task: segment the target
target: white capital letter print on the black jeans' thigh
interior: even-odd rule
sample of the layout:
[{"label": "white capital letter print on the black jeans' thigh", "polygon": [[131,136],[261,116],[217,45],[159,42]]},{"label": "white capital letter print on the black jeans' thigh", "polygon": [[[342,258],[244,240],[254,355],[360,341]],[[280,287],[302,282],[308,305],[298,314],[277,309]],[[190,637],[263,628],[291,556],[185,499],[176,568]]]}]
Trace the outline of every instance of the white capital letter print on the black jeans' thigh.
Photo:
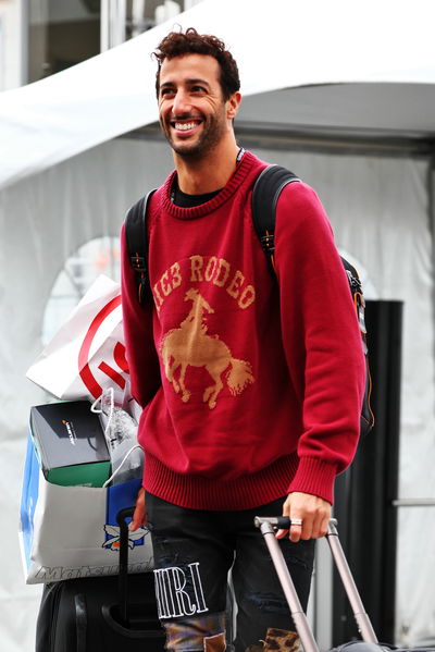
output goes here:
[{"label": "white capital letter print on the black jeans' thigh", "polygon": [[199,563],[185,568],[171,566],[154,570],[159,618],[192,616],[209,611],[206,604]]}]

